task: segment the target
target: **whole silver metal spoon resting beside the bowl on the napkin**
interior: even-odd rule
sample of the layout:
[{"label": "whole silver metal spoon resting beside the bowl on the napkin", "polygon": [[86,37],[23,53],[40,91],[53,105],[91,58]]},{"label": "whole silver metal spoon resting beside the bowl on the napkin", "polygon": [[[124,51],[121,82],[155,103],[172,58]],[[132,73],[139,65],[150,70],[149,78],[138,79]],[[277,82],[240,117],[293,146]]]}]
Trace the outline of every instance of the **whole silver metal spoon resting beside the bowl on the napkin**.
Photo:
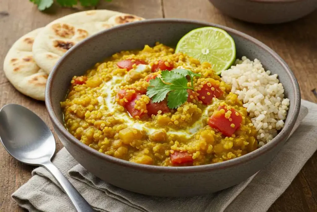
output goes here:
[{"label": "whole silver metal spoon resting beside the bowl on the napkin", "polygon": [[50,161],[55,139],[45,122],[29,109],[9,104],[0,110],[0,141],[16,160],[46,168],[61,184],[78,212],[94,209]]}]

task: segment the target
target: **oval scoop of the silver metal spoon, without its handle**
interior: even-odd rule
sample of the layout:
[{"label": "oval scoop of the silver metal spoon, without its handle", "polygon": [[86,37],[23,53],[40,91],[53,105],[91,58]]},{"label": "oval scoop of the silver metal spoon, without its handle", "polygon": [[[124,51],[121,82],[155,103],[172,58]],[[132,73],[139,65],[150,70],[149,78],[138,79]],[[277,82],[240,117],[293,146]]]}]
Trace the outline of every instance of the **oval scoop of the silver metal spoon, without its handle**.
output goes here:
[{"label": "oval scoop of the silver metal spoon, without its handle", "polygon": [[16,104],[6,105],[0,110],[0,123],[1,143],[16,160],[41,165],[54,155],[53,133],[29,109]]}]

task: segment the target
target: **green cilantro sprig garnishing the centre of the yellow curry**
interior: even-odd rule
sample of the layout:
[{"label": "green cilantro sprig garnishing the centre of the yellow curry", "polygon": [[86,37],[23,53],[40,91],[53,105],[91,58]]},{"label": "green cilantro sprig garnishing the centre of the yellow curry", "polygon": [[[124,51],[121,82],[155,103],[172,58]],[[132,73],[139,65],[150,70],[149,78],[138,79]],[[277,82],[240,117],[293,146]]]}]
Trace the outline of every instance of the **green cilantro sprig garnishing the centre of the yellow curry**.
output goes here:
[{"label": "green cilantro sprig garnishing the centre of the yellow curry", "polygon": [[[186,76],[191,78],[190,87],[187,86]],[[150,80],[146,95],[152,99],[152,102],[161,102],[167,96],[167,106],[171,109],[178,108],[188,98],[187,89],[194,90],[194,77],[200,77],[200,74],[186,69],[163,71],[161,78]]]}]

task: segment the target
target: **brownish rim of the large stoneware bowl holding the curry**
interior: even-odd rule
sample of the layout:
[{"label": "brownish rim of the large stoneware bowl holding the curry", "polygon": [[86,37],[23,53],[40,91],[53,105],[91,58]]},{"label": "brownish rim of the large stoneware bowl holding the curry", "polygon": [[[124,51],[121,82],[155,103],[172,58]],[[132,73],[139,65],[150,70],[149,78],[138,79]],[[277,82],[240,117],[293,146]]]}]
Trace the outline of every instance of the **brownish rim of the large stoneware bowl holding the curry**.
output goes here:
[{"label": "brownish rim of the large stoneware bowl holding the curry", "polygon": [[[115,158],[113,156],[100,153],[99,151],[83,144],[80,142],[78,139],[76,139],[71,133],[68,132],[68,130],[64,127],[63,123],[61,123],[58,120],[58,116],[55,113],[55,110],[53,108],[52,104],[52,82],[54,81],[59,67],[67,60],[69,55],[71,55],[73,52],[78,51],[81,48],[81,45],[84,45],[86,43],[89,43],[94,40],[94,38],[104,36],[104,34],[111,33],[112,31],[117,31],[117,30],[122,30],[125,28],[130,28],[136,25],[147,25],[147,24],[156,24],[156,23],[166,23],[166,24],[173,24],[173,23],[182,23],[182,24],[198,24],[204,26],[213,26],[213,27],[218,27],[221,28],[227,32],[230,32],[232,34],[235,34],[237,36],[243,37],[250,42],[253,42],[254,44],[258,45],[259,48],[264,49],[265,51],[268,51],[283,67],[284,70],[287,72],[288,76],[292,80],[292,87],[294,89],[294,108],[293,111],[288,111],[288,114],[291,114],[291,118],[288,121],[287,124],[282,128],[281,132],[275,136],[273,140],[271,140],[269,143],[264,145],[261,148],[256,149],[253,152],[250,152],[248,154],[245,154],[243,156],[228,160],[228,161],[223,161],[219,163],[213,163],[213,164],[207,164],[207,165],[199,165],[199,166],[185,166],[185,167],[164,167],[164,166],[154,166],[154,165],[146,165],[146,164],[139,164],[139,163],[133,163],[130,161],[125,161],[119,158]],[[293,92],[293,91],[291,91]],[[127,23],[127,24],[122,24],[115,26],[113,28],[107,29],[100,31],[84,40],[76,44],[74,47],[72,47],[70,50],[68,50],[60,59],[59,61],[55,64],[52,72],[49,74],[49,78],[46,84],[45,88],[45,104],[49,113],[49,117],[53,124],[55,125],[55,129],[57,130],[65,137],[69,142],[72,142],[73,144],[77,145],[82,149],[82,151],[85,151],[88,154],[95,155],[99,157],[100,159],[103,159],[107,162],[110,163],[115,163],[117,165],[124,166],[126,168],[132,168],[132,169],[142,169],[144,171],[150,171],[150,172],[169,172],[169,173],[188,173],[188,172],[205,172],[205,171],[211,171],[211,170],[217,170],[217,169],[223,169],[223,168],[228,168],[232,166],[236,166],[241,163],[246,163],[256,157],[259,157],[262,154],[265,154],[275,146],[277,146],[279,143],[281,143],[284,140],[285,136],[289,136],[289,133],[294,127],[294,123],[297,120],[299,110],[300,110],[300,103],[301,103],[301,93],[300,93],[300,88],[299,84],[297,82],[297,79],[295,78],[293,72],[290,70],[288,65],[285,63],[285,61],[271,48],[269,48],[267,45],[263,44],[259,40],[243,33],[240,31],[237,31],[235,29],[222,26],[219,24],[213,24],[213,23],[208,23],[208,22],[203,22],[203,21],[196,21],[196,20],[189,20],[189,19],[176,19],[176,18],[157,18],[157,19],[149,19],[149,20],[142,20],[138,22],[132,22],[132,23]]]}]

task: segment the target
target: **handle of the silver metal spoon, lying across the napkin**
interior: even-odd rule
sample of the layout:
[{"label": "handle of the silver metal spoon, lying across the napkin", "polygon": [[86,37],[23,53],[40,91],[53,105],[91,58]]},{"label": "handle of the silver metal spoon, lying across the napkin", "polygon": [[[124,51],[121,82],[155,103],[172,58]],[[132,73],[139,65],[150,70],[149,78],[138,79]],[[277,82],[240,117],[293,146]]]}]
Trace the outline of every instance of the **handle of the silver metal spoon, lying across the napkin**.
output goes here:
[{"label": "handle of the silver metal spoon, lying across the napkin", "polygon": [[94,209],[88,204],[88,202],[81,196],[76,188],[68,181],[68,179],[61,173],[58,168],[51,162],[42,163],[42,166],[46,168],[60,183],[61,187],[68,195],[72,203],[74,204],[78,212],[93,212]]}]

